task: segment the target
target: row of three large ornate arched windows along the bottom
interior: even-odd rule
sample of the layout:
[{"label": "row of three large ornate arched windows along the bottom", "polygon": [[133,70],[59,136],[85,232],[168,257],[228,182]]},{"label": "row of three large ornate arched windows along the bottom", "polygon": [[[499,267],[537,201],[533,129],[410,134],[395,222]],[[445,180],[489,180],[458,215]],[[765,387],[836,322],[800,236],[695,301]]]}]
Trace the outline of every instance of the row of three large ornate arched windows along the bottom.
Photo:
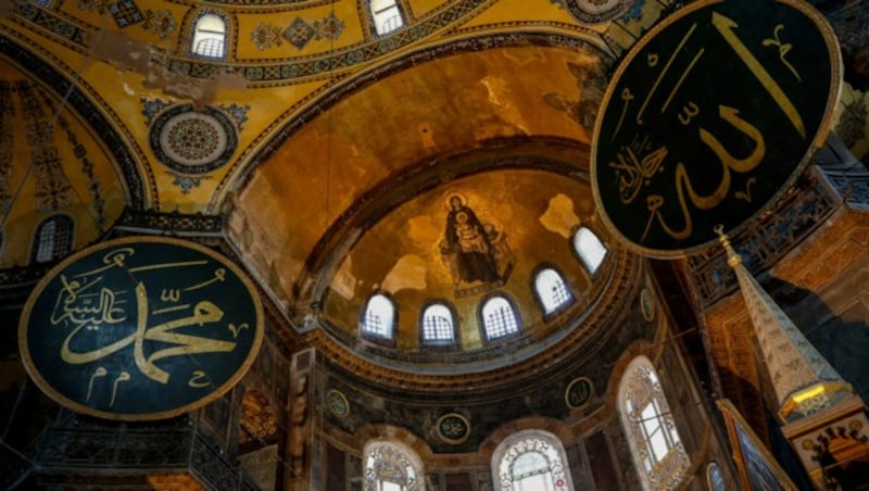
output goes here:
[{"label": "row of three large ornate arched windows along the bottom", "polygon": [[[622,429],[644,490],[675,490],[690,461],[676,429],[657,373],[645,356],[634,358],[618,389]],[[419,456],[402,443],[374,440],[363,450],[366,491],[413,491],[425,476]],[[515,432],[495,448],[493,488],[500,491],[568,491],[574,483],[564,444],[537,429]]]}]

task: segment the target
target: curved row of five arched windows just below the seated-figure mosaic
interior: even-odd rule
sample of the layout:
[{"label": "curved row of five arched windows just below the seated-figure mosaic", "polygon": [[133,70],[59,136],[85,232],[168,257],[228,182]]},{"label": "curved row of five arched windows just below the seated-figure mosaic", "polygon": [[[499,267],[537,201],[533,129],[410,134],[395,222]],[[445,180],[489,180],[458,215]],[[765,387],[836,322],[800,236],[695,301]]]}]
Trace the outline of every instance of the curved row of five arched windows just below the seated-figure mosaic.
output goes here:
[{"label": "curved row of five arched windows just below the seated-figure mosaic", "polygon": [[[582,227],[574,235],[574,249],[582,264],[593,275],[606,257],[606,247],[590,229]],[[575,301],[564,277],[546,266],[534,275],[534,293],[544,315],[561,312]],[[456,316],[446,302],[432,302],[420,317],[420,339],[428,345],[449,345],[456,342]],[[519,333],[519,313],[506,295],[498,293],[487,299],[479,310],[479,322],[488,341]],[[362,332],[379,339],[391,340],[396,325],[395,305],[383,293],[375,293],[365,306],[361,319]]]}]

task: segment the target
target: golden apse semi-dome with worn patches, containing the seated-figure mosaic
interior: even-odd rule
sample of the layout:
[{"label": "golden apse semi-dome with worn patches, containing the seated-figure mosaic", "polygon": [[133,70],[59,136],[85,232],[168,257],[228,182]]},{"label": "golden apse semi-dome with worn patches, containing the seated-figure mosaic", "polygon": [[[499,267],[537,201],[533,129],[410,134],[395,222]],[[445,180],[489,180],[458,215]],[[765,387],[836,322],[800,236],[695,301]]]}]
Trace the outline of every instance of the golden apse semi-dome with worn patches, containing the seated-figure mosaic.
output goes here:
[{"label": "golden apse semi-dome with worn patches, containing the seated-figure mosaic", "polygon": [[[305,111],[288,121],[240,171],[231,238],[298,325],[316,320],[324,342],[393,368],[479,372],[527,358],[579,325],[597,329],[577,319],[627,274],[588,182],[604,67],[590,46],[533,45],[429,48],[376,66],[342,83],[340,97],[313,102],[304,126]],[[456,221],[468,215],[486,236],[474,260],[450,252],[461,250]],[[577,253],[580,227],[613,249],[600,270]],[[544,267],[571,297],[562,315],[546,314],[534,291]],[[387,339],[364,332],[375,293],[395,307]],[[495,294],[517,310],[521,336],[487,339],[480,307]],[[426,345],[420,335],[432,303],[454,314],[450,345]]]}]

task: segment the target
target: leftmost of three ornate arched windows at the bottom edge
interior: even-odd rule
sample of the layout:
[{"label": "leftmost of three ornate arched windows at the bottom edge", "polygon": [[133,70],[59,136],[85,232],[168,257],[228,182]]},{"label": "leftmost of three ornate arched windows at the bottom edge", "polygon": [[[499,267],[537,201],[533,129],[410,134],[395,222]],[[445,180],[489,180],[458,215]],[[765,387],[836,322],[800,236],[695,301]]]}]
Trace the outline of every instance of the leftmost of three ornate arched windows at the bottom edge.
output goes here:
[{"label": "leftmost of three ornate arched windows at the bottom edge", "polygon": [[425,489],[423,461],[410,449],[391,441],[365,444],[365,491]]}]

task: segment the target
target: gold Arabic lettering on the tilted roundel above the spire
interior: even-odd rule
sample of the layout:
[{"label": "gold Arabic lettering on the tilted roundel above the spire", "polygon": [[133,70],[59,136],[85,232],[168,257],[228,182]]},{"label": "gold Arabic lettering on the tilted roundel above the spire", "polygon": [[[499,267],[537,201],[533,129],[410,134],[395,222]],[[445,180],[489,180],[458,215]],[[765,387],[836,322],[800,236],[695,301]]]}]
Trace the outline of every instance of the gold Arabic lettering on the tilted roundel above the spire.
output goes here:
[{"label": "gold Arabic lettering on the tilted roundel above the spire", "polygon": [[[748,68],[754,77],[760,83],[766,90],[767,95],[771,98],[774,104],[782,111],[783,115],[788,118],[791,125],[802,139],[806,138],[806,127],[799,112],[796,110],[794,103],[772,78],[769,72],[757,60],[752,51],[743,43],[738,37],[736,29],[739,25],[731,18],[718,13],[711,13],[711,26],[718,32],[720,38],[723,39],[731,51],[739,58],[739,60]],[[664,68],[657,74],[651,89],[646,93],[645,99],[640,105],[635,114],[635,122],[638,126],[643,125],[643,113],[651,109],[650,102],[656,91],[662,89],[662,81],[665,79],[667,72],[678,64],[680,51],[689,45],[691,37],[694,35],[697,24],[694,23],[681,38],[676,50],[670,54]],[[774,27],[773,39],[766,39],[763,46],[772,46],[779,49],[779,58],[786,65],[786,67],[799,79],[799,75],[794,66],[784,60],[793,46],[791,43],[781,42],[781,33],[784,29],[782,24]],[[687,64],[682,73],[679,75],[678,80],[670,88],[666,101],[660,108],[660,113],[667,111],[670,102],[673,101],[675,96],[680,90],[685,81],[688,74],[694,68],[697,61],[703,56],[705,48],[696,50],[694,56]],[[659,56],[657,53],[648,53],[646,55],[647,67],[652,68],[657,66]],[[626,77],[627,78],[627,77]],[[626,112],[631,100],[634,99],[630,87],[620,89],[621,102],[620,115],[616,124],[615,131],[610,137],[614,141],[617,134],[621,130],[625,121]],[[707,108],[708,109],[708,108]],[[691,126],[696,116],[701,114],[704,109],[702,104],[695,101],[688,100],[676,113],[676,117],[681,126]],[[676,162],[672,171],[673,188],[676,189],[676,202],[679,207],[679,213],[675,214],[679,219],[678,225],[672,222],[667,222],[671,218],[670,215],[662,213],[662,209],[667,204],[665,197],[659,193],[648,193],[645,196],[645,209],[648,212],[648,219],[643,229],[640,242],[645,242],[653,224],[657,224],[659,229],[667,236],[683,240],[689,238],[693,232],[693,218],[691,210],[711,210],[721,204],[730,194],[732,176],[736,174],[747,174],[755,169],[764,161],[767,154],[767,144],[761,131],[751,122],[746,121],[740,115],[740,110],[725,103],[716,104],[715,112],[718,117],[729,124],[732,128],[736,129],[745,138],[745,141],[751,141],[753,147],[748,150],[747,155],[734,155],[728,148],[703,124],[696,125],[696,133],[700,141],[709,149],[717,159],[718,168],[717,173],[713,169],[713,175],[720,176],[717,180],[717,186],[709,191],[701,192],[692,182],[689,175],[688,167],[683,162]],[[612,169],[615,176],[615,186],[617,189],[618,198],[624,204],[633,203],[641,190],[650,186],[658,174],[664,173],[665,163],[670,154],[666,144],[655,143],[648,136],[635,135],[629,144],[622,144],[615,158],[612,159],[607,166]],[[704,175],[709,175],[709,169],[703,169]],[[746,202],[751,202],[751,185],[755,184],[755,177],[748,177],[745,190],[735,191],[734,198]]]}]

